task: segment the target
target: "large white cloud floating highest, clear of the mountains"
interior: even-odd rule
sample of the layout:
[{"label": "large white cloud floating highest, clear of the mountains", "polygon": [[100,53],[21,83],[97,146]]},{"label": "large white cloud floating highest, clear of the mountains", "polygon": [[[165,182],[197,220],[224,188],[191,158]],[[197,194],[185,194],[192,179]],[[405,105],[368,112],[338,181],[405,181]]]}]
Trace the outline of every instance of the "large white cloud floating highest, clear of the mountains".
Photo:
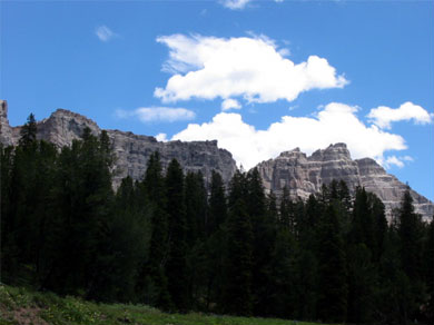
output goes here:
[{"label": "large white cloud floating highest, clear of the mountains", "polygon": [[[215,38],[172,35],[159,37],[169,48],[162,70],[174,73],[154,95],[164,102],[228,99],[248,102],[292,101],[310,89],[343,88],[347,80],[336,75],[326,59],[310,56],[294,63],[266,36]],[[279,52],[280,51],[280,52]]]}]

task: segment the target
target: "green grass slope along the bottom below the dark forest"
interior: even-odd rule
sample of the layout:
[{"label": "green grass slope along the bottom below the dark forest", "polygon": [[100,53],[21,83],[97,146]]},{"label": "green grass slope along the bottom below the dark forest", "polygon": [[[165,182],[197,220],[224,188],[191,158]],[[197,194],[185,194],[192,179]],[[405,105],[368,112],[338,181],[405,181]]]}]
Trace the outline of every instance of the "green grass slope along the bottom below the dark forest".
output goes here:
[{"label": "green grass slope along the bottom below the dark forest", "polygon": [[234,316],[166,314],[144,305],[97,304],[77,297],[0,285],[0,325],[309,325],[312,323]]}]

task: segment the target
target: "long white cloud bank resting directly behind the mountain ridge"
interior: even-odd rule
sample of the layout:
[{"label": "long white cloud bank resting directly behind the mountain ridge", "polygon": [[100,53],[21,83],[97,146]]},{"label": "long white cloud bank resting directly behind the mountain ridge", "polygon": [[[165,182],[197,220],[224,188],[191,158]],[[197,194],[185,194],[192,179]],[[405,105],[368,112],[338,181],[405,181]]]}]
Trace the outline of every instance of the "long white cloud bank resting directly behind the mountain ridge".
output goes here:
[{"label": "long white cloud bank resting directly behind the mountain ridge", "polygon": [[220,112],[208,124],[190,124],[175,135],[179,140],[218,140],[238,164],[250,168],[282,151],[299,147],[304,152],[346,142],[353,158],[372,157],[384,161],[387,150],[406,149],[404,139],[377,126],[366,126],[356,116],[357,108],[332,102],[315,117],[284,116],[266,130],[257,130],[243,121],[239,114]]}]

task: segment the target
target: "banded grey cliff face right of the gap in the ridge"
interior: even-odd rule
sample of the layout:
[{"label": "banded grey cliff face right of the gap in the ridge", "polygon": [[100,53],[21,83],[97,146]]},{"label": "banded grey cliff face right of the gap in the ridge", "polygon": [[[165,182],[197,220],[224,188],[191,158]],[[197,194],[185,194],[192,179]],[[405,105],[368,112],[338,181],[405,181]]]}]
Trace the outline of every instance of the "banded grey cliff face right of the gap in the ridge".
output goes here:
[{"label": "banded grey cliff face right of the gap in the ridge", "polygon": [[[375,193],[388,214],[400,206],[406,189],[403,183],[387,174],[375,160],[353,160],[345,144],[331,145],[309,157],[296,148],[282,152],[276,159],[260,162],[257,167],[265,188],[277,196],[287,186],[293,198],[299,196],[307,199],[310,194],[318,193],[323,184],[343,179],[352,191],[356,186],[364,186],[366,190]],[[416,211],[431,219],[434,214],[433,203],[414,190],[411,193]]]}]

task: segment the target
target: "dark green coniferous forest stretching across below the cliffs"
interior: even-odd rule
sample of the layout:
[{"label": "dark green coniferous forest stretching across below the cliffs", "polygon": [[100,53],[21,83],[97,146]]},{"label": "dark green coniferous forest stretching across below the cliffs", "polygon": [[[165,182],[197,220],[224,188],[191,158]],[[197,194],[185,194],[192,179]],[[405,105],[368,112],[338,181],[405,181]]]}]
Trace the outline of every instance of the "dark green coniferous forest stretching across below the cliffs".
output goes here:
[{"label": "dark green coniferous forest stretching across below the cliffs", "polygon": [[265,194],[259,173],[167,169],[112,189],[105,131],[60,151],[32,116],[1,154],[1,282],[168,312],[355,324],[433,324],[434,223],[406,191],[383,203],[335,180],[307,201]]}]

